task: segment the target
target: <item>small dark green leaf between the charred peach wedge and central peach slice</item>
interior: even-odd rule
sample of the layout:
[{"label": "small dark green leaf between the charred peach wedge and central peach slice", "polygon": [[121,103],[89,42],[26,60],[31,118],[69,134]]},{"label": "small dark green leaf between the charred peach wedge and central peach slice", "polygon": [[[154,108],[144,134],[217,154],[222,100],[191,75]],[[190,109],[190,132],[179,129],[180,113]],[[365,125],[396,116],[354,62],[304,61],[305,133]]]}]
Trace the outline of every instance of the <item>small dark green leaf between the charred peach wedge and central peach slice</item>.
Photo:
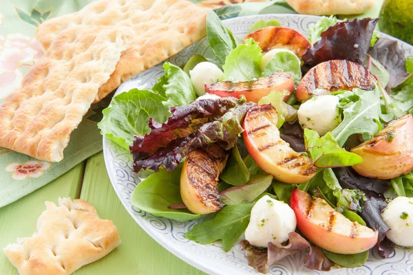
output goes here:
[{"label": "small dark green leaf between the charred peach wedge and central peach slice", "polygon": [[244,185],[250,179],[250,173],[241,158],[240,151],[236,144],[231,150],[231,155],[226,162],[225,169],[222,171],[220,178],[227,184],[235,186]]}]

